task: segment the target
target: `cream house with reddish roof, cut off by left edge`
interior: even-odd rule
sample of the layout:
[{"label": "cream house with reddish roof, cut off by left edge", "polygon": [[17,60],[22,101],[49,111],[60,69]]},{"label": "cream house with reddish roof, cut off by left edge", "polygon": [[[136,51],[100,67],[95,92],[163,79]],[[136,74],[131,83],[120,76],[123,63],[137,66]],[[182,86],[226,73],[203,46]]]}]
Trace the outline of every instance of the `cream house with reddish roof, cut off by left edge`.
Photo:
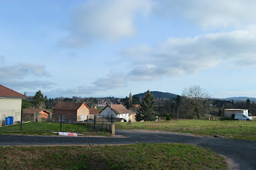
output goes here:
[{"label": "cream house with reddish roof, cut off by left edge", "polygon": [[13,122],[20,122],[21,103],[26,96],[0,85],[0,125],[5,125],[5,117],[13,116]]}]

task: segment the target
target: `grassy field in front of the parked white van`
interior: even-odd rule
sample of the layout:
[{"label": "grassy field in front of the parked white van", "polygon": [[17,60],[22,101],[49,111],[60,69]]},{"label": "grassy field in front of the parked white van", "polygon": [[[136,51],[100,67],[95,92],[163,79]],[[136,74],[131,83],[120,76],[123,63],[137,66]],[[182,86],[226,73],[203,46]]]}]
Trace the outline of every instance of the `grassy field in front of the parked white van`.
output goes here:
[{"label": "grassy field in front of the parked white van", "polygon": [[232,139],[256,140],[256,121],[170,120],[162,122],[115,123],[119,129],[151,129],[197,135],[219,135]]}]

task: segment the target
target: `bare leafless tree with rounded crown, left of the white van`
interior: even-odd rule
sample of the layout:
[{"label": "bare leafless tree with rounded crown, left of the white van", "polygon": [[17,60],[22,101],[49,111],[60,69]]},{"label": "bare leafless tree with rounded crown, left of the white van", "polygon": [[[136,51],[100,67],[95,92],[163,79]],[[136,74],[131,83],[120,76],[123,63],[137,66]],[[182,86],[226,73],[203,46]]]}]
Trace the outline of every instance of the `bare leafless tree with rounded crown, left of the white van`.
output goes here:
[{"label": "bare leafless tree with rounded crown, left of the white van", "polygon": [[183,90],[182,96],[187,97],[189,105],[192,107],[197,119],[200,119],[200,116],[208,108],[208,98],[210,98],[210,95],[199,85],[192,85]]}]

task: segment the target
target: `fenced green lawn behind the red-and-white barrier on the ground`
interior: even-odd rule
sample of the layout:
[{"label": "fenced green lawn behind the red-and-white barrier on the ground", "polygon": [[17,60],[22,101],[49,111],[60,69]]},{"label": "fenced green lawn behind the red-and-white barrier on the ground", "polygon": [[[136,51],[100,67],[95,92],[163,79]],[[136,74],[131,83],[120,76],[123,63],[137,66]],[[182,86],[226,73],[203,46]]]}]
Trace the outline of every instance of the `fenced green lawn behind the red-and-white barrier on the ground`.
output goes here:
[{"label": "fenced green lawn behind the red-and-white barrier on the ground", "polygon": [[[20,124],[0,127],[0,134],[36,134],[36,135],[53,135],[53,131],[60,131],[60,123],[23,123],[23,131],[20,131]],[[110,133],[105,131],[94,132],[89,131],[89,127],[76,124],[62,124],[62,131],[74,132],[84,135],[105,135]]]}]

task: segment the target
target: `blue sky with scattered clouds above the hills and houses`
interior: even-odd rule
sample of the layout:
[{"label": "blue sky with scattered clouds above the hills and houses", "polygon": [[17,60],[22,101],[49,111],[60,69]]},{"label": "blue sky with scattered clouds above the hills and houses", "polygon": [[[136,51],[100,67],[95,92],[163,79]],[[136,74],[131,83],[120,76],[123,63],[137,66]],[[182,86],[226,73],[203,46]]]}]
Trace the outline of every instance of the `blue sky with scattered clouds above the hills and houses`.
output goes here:
[{"label": "blue sky with scattered clouds above the hills and houses", "polygon": [[254,0],[1,0],[0,84],[48,97],[256,97]]}]

